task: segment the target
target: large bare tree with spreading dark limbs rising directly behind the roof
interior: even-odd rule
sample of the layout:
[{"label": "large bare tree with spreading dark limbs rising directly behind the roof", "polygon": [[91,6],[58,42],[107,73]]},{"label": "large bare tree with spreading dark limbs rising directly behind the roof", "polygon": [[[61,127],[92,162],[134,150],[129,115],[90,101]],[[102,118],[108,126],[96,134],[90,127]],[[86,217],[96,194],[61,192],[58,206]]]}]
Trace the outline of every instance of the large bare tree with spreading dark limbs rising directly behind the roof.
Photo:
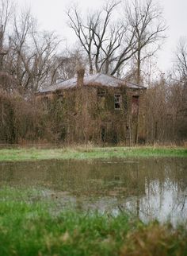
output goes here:
[{"label": "large bare tree with spreading dark limbs rising directly behind the roof", "polygon": [[89,59],[90,74],[116,74],[126,60],[135,53],[135,31],[122,21],[113,21],[113,13],[120,2],[107,1],[101,11],[89,14],[84,21],[78,8],[67,12],[69,25],[74,29]]}]

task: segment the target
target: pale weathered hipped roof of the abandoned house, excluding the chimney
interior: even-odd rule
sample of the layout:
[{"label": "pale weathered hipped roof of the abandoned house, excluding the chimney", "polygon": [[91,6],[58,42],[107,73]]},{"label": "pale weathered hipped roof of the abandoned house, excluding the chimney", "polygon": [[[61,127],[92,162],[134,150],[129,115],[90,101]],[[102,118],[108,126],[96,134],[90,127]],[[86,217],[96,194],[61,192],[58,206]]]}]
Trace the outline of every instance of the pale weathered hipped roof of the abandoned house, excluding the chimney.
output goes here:
[{"label": "pale weathered hipped roof of the abandoned house, excluding the chimney", "polygon": [[[124,80],[117,79],[116,77],[97,73],[94,75],[84,76],[84,85],[94,85],[94,86],[105,86],[105,87],[121,87],[126,86],[132,89],[145,89],[145,87],[140,86],[135,83],[125,82]],[[70,80],[63,81],[61,83],[56,83],[44,89],[40,89],[39,93],[57,91],[61,89],[69,89],[76,87],[77,78],[71,78]]]}]

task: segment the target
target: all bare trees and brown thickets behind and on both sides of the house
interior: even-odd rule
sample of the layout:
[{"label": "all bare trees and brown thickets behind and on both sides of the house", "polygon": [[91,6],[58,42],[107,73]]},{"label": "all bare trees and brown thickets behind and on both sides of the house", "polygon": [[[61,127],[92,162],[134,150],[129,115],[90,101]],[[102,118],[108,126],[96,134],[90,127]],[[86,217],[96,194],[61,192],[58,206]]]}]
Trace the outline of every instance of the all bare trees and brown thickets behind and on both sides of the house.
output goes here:
[{"label": "all bare trees and brown thickets behind and on both sides of the house", "polygon": [[0,1],[0,142],[59,142],[60,101],[52,102],[47,111],[34,94],[73,77],[80,62],[90,74],[103,72],[147,87],[147,143],[185,141],[187,45],[185,40],[177,45],[171,76],[155,80],[152,58],[166,37],[158,4],[107,0],[86,17],[78,7],[70,7],[67,21],[78,39],[72,50],[64,49],[55,33],[40,31],[30,10],[17,10],[11,0]]}]

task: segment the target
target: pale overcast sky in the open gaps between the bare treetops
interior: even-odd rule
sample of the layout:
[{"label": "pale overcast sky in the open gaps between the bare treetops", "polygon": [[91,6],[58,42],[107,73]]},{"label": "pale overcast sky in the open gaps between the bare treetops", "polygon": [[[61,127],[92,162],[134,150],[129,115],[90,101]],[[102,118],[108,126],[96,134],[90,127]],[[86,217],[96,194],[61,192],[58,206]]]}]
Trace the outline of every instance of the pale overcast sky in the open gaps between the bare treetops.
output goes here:
[{"label": "pale overcast sky in the open gaps between the bare treetops", "polygon": [[[101,6],[103,0],[77,0],[82,12]],[[70,0],[17,0],[19,6],[30,7],[32,14],[39,21],[40,27],[55,30],[60,37],[67,37],[71,43],[74,33],[67,27],[65,10],[71,5]],[[158,54],[158,68],[166,72],[171,67],[174,52],[180,37],[187,37],[187,0],[160,0],[168,30],[167,39]]]}]

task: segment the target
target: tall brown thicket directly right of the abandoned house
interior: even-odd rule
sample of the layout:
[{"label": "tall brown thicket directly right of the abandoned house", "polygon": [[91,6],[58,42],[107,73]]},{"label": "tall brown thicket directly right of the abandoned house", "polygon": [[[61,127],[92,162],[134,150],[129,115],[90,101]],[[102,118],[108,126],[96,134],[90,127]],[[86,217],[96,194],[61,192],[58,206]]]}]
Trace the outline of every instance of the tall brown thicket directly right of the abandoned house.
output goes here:
[{"label": "tall brown thicket directly right of the abandoned house", "polygon": [[173,142],[187,138],[186,83],[161,79],[147,89],[147,143]]}]

